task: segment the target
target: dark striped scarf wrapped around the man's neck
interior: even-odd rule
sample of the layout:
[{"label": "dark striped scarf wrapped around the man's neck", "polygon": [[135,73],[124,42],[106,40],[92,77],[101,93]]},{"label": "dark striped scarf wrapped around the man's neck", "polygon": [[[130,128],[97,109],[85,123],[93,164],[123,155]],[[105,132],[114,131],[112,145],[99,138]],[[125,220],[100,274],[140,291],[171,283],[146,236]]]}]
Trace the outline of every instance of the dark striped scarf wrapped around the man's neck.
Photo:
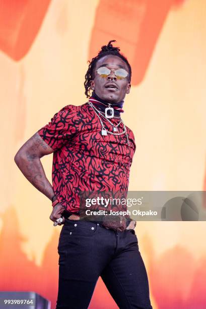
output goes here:
[{"label": "dark striped scarf wrapped around the man's neck", "polygon": [[101,112],[105,113],[105,109],[110,106],[114,109],[114,117],[120,117],[120,113],[123,113],[123,104],[124,101],[120,101],[118,103],[109,103],[108,101],[105,101],[101,99],[94,91],[92,92],[92,96],[89,98],[89,101],[92,102],[92,104]]}]

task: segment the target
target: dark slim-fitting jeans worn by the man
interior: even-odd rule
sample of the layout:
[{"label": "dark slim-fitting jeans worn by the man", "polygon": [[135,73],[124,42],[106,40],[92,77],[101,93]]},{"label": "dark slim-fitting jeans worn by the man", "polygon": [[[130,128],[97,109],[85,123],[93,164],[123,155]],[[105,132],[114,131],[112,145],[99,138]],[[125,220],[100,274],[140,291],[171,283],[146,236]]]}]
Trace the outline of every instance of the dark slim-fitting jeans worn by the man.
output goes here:
[{"label": "dark slim-fitting jeans worn by the man", "polygon": [[58,253],[56,308],[88,308],[101,276],[120,309],[152,309],[147,272],[134,230],[114,231],[100,223],[66,219]]}]

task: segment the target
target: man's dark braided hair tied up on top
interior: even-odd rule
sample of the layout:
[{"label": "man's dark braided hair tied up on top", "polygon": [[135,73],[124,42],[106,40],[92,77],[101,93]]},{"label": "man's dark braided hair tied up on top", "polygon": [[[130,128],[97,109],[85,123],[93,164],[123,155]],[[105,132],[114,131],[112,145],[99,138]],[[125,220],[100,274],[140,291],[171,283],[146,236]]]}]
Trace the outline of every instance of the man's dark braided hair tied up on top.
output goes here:
[{"label": "man's dark braided hair tied up on top", "polygon": [[118,56],[119,58],[121,58],[128,66],[128,69],[129,69],[128,82],[130,83],[130,81],[131,81],[130,64],[128,63],[127,59],[122,54],[119,53],[120,48],[119,47],[113,47],[111,42],[116,42],[116,40],[109,41],[109,43],[107,45],[102,46],[102,49],[100,50],[99,54],[96,57],[92,58],[91,62],[89,61],[89,68],[88,68],[87,73],[85,75],[85,82],[84,82],[85,94],[86,94],[87,97],[90,96],[90,91],[91,91],[90,82],[91,82],[91,80],[93,80],[93,70],[96,66],[97,61],[104,56],[113,55],[113,56]]}]

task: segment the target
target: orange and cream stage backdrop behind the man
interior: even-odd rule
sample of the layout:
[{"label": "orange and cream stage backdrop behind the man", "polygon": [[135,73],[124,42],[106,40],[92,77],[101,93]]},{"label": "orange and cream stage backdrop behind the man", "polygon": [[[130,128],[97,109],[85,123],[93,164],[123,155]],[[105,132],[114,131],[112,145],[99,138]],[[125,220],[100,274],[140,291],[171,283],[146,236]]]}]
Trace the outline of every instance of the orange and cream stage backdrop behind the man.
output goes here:
[{"label": "orange and cream stage backdrop behind the man", "polygon": [[[1,0],[1,290],[36,291],[55,307],[61,227],[14,156],[62,107],[87,101],[87,61],[111,39],[132,66],[122,116],[136,141],[129,190],[206,189],[205,38],[204,0]],[[51,182],[52,155],[41,161]],[[205,308],[205,222],[135,231],[153,308]],[[117,308],[101,279],[90,308]]]}]

